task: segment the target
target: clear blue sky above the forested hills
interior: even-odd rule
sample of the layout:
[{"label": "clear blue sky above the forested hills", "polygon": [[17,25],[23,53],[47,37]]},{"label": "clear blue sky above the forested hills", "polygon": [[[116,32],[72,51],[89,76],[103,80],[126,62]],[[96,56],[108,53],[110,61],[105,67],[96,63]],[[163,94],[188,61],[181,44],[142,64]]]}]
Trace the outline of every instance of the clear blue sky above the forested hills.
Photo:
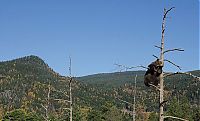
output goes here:
[{"label": "clear blue sky above the forested hills", "polygon": [[74,76],[114,72],[114,63],[147,66],[159,56],[154,45],[170,7],[165,48],[185,52],[165,57],[182,71],[199,69],[198,0],[1,0],[0,61],[37,55],[67,75],[71,56]]}]

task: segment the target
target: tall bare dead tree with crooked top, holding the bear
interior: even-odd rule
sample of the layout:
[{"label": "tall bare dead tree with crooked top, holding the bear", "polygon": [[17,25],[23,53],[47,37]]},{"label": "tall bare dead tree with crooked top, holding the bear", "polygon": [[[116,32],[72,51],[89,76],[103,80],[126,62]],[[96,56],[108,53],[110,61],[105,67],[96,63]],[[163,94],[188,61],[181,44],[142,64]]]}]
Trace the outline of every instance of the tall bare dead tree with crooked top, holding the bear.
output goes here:
[{"label": "tall bare dead tree with crooked top, holding the bear", "polygon": [[[169,50],[165,50],[164,49],[164,35],[165,35],[165,23],[166,23],[166,18],[167,18],[167,14],[173,9],[174,7],[170,8],[170,9],[164,9],[164,15],[163,15],[163,19],[162,19],[162,31],[161,31],[161,46],[156,46],[156,48],[160,49],[160,57],[157,57],[155,55],[153,55],[153,57],[159,59],[161,62],[162,62],[162,66],[164,67],[164,62],[168,62],[170,64],[172,64],[173,66],[177,67],[179,70],[181,70],[181,67],[175,63],[173,63],[172,61],[170,60],[167,60],[164,58],[164,54],[165,53],[168,53],[168,52],[173,52],[173,51],[184,51],[183,49],[181,48],[173,48],[173,49],[169,49]],[[145,69],[148,69],[147,67],[145,66],[136,66],[136,67],[127,67],[127,66],[124,66],[124,65],[120,65],[120,64],[115,64],[116,66],[120,67],[121,70],[128,70],[128,69],[133,69],[133,68],[145,68]],[[200,81],[200,77],[198,76],[195,76],[191,73],[187,73],[187,72],[175,72],[175,73],[168,73],[168,74],[165,74],[163,71],[162,73],[160,74],[159,76],[159,82],[160,82],[160,85],[159,86],[155,86],[153,84],[149,84],[150,86],[156,88],[159,93],[160,93],[160,101],[159,101],[159,108],[160,108],[160,113],[159,113],[159,121],[164,121],[165,118],[173,118],[173,119],[179,119],[179,120],[183,120],[183,121],[188,121],[186,119],[183,119],[183,118],[179,118],[179,117],[174,117],[174,116],[164,116],[164,104],[166,103],[166,101],[164,100],[164,78],[165,77],[168,77],[168,76],[172,76],[172,75],[176,75],[176,74],[185,74],[185,75],[189,75],[197,80]]]}]

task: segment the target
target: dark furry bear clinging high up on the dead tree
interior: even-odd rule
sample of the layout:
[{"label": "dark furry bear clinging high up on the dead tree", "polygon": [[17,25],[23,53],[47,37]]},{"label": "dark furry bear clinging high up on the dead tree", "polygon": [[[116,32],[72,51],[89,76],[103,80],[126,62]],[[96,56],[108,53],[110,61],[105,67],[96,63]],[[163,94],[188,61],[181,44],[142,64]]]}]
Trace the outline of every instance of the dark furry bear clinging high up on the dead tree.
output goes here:
[{"label": "dark furry bear clinging high up on the dead tree", "polygon": [[158,86],[158,83],[160,81],[159,76],[162,73],[162,67],[163,64],[159,59],[148,65],[148,70],[144,75],[144,84],[146,86],[149,87],[150,86],[149,84]]}]

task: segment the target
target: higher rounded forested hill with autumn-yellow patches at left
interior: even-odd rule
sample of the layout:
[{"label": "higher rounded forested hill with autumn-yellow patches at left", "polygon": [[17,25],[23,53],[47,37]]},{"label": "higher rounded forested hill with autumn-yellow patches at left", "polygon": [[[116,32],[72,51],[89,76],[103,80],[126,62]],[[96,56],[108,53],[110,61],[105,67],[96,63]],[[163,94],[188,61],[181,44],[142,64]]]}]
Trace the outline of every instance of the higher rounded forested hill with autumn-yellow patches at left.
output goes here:
[{"label": "higher rounded forested hill with autumn-yellow patches at left", "polygon": [[[55,90],[68,90],[67,79],[63,81],[62,76],[54,72],[41,58],[33,55],[0,62],[0,74],[0,110],[3,114],[14,109],[43,114],[49,85],[52,90],[50,96],[53,98],[63,96]],[[55,103],[54,100],[50,102],[52,105]],[[59,106],[57,104],[51,108],[56,112]]]}]

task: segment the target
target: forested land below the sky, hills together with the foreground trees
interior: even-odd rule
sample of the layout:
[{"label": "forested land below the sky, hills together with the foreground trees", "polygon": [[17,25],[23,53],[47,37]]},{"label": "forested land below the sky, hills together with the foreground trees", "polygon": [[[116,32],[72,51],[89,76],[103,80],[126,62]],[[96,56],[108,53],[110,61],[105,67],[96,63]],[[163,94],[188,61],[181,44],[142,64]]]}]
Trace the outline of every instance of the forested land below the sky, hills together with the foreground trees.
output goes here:
[{"label": "forested land below the sky, hills together with the foreground trees", "polygon": [[[143,83],[144,71],[95,74],[73,78],[74,120],[131,120],[134,78],[137,74],[136,118],[152,120],[159,109],[158,92]],[[200,76],[200,71],[192,71]],[[54,72],[37,56],[0,62],[0,118],[68,120],[69,79]],[[165,112],[197,121],[200,82],[187,75],[165,79]],[[48,98],[49,95],[49,98]],[[63,100],[57,100],[63,99]],[[45,107],[48,107],[45,110]],[[176,109],[176,110],[175,110]],[[48,116],[47,116],[48,115]],[[111,118],[112,117],[112,118]]]}]

